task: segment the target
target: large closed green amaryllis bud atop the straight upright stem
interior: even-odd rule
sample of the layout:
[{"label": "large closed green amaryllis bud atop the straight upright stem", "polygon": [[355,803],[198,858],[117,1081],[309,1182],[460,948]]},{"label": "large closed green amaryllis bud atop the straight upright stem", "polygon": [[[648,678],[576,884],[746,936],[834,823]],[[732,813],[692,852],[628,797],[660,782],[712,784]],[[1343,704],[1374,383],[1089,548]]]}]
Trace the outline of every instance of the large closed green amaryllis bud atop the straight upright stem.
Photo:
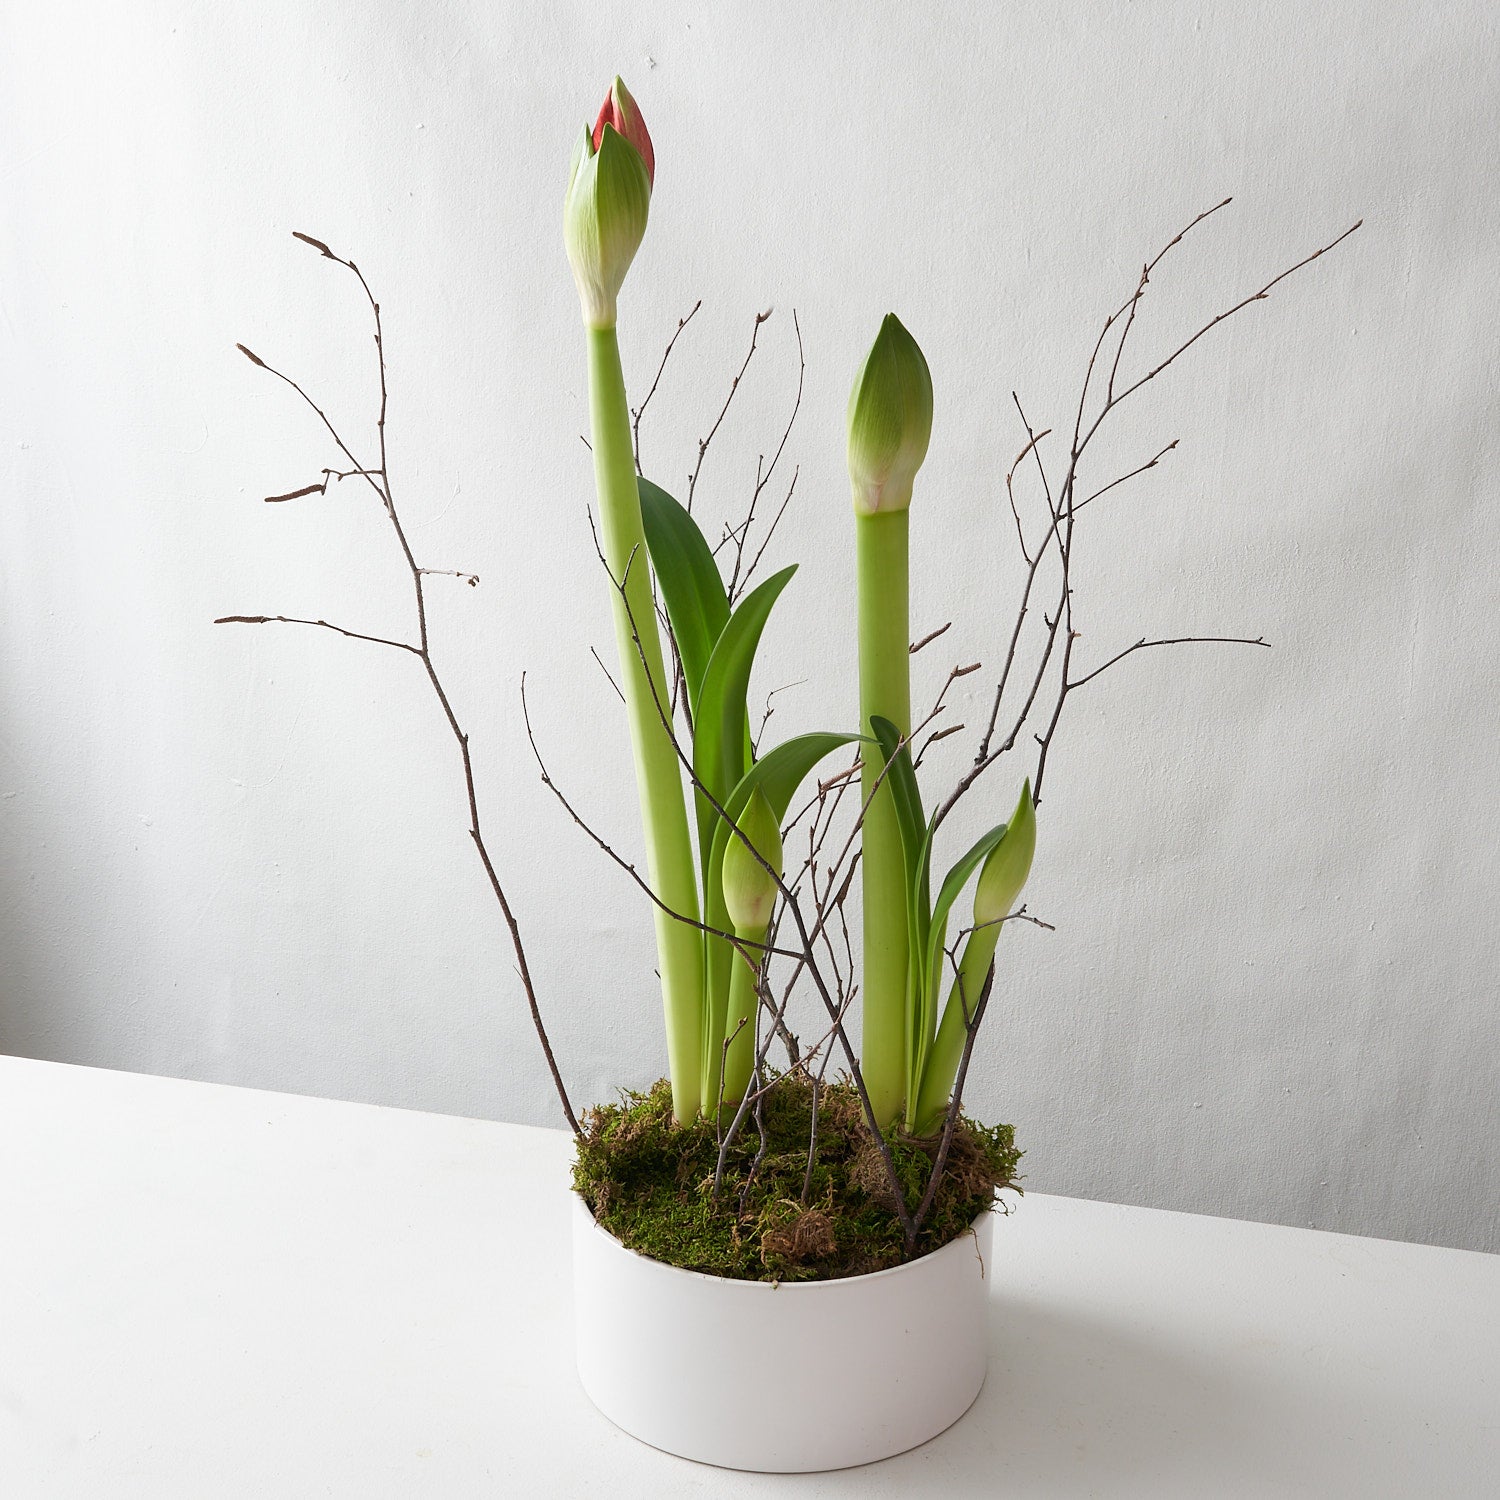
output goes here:
[{"label": "large closed green amaryllis bud atop the straight upright stem", "polygon": [[861,516],[904,510],[933,430],[933,381],[916,340],[894,312],[849,394],[849,480]]}]

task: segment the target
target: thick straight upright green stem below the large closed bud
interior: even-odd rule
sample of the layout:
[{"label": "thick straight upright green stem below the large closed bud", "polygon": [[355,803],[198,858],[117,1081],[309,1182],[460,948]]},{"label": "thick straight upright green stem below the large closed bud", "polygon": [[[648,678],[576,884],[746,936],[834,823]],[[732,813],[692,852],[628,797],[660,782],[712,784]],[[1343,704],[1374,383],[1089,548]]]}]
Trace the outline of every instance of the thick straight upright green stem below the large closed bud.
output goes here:
[{"label": "thick straight upright green stem below the large closed bud", "polygon": [[[912,729],[908,622],[908,512],[855,514],[860,574],[860,730],[872,716]],[[876,1120],[890,1124],[906,1102],[908,934],[906,856],[880,753],[864,747],[864,1041],[860,1060]],[[876,783],[879,782],[879,786]],[[872,788],[874,800],[870,801]]]}]

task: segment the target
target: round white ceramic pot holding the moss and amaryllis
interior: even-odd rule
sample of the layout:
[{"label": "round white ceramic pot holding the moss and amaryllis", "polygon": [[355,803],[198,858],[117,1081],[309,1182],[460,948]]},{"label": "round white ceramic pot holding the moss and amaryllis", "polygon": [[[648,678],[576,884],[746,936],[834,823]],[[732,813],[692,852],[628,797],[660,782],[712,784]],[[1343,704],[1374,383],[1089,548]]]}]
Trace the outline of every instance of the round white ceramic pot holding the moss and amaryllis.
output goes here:
[{"label": "round white ceramic pot holding the moss and amaryllis", "polygon": [[838,1281],[734,1281],[648,1260],[573,1200],[578,1372],[633,1437],[724,1468],[902,1454],[974,1404],[992,1214],[921,1260]]}]

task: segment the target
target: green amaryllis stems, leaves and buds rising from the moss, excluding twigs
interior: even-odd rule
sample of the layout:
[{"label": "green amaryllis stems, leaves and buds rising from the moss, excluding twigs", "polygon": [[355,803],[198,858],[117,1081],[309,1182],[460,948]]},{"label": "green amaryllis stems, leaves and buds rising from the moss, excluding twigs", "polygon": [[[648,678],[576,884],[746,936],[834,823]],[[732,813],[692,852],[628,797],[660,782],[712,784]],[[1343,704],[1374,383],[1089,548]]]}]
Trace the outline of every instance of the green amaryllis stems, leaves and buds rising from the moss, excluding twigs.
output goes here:
[{"label": "green amaryllis stems, leaves and buds rising from the moss, excluding twigs", "polygon": [[[1020,896],[1035,848],[1029,790],[1012,825],[984,836],[932,900],[932,830],[909,750],[908,507],[927,453],[933,390],[927,362],[886,316],[849,400],[849,474],[860,572],[860,732],[804,735],[764,753],[750,741],[747,692],[756,648],[795,568],[734,609],[712,549],[692,514],[636,474],[630,405],[615,338],[618,297],[645,234],[654,152],[640,111],[615,80],[573,154],[564,240],[590,350],[590,412],[602,554],[609,568],[622,696],[630,716],[645,826],[646,880],[657,898],[657,951],[678,1120],[735,1112],[752,1088],[762,970],[784,885],[780,819],[818,762],[861,741],[864,855],[862,1074],[873,1119],[908,1131],[940,1122],[952,1090],[964,1014],[988,978],[999,924]],[[678,736],[652,582],[664,603],[670,658],[681,664]],[[692,783],[696,864],[684,808]],[[1002,852],[1004,850],[1004,852]],[[939,1017],[946,921],[964,882],[1006,891],[981,903]],[[1002,873],[1004,872],[1004,873]],[[796,916],[800,933],[812,930]],[[816,945],[798,957],[819,963]],[[842,1028],[842,1017],[836,1017]],[[939,1038],[944,1046],[938,1046]],[[920,1104],[928,1107],[918,1119]]]}]

